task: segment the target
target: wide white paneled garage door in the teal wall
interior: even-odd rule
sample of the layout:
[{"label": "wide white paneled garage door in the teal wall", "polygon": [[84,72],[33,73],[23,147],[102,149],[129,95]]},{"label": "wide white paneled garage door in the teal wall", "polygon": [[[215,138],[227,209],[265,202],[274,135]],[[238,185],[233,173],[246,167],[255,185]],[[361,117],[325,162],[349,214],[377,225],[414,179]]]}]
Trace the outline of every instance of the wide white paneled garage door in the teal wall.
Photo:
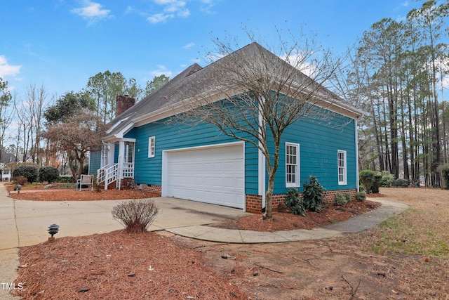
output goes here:
[{"label": "wide white paneled garage door in the teal wall", "polygon": [[168,197],[244,208],[243,144],[168,151],[166,159]]}]

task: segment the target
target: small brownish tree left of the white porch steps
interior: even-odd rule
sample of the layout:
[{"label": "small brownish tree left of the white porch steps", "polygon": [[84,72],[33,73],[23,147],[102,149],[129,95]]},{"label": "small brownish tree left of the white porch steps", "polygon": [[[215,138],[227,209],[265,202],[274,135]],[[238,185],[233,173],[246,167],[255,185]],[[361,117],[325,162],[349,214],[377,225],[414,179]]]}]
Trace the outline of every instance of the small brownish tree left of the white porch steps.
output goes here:
[{"label": "small brownish tree left of the white porch steps", "polygon": [[79,112],[60,124],[50,125],[44,133],[53,151],[67,154],[73,180],[79,178],[89,151],[97,150],[106,125],[93,112]]}]

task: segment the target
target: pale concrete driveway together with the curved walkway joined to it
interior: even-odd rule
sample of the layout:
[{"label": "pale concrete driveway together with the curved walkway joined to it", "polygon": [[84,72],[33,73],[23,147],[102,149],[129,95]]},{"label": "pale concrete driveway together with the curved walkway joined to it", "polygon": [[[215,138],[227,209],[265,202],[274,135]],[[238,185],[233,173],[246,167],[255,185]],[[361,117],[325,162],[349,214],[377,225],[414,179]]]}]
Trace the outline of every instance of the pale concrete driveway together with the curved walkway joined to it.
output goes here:
[{"label": "pale concrete driveway together with the curved walkway joined to it", "polygon": [[[83,192],[79,192],[83,193]],[[200,240],[232,243],[293,242],[339,237],[377,226],[394,214],[407,209],[407,205],[387,200],[382,207],[348,221],[314,230],[288,230],[260,233],[250,230],[227,230],[206,225],[227,219],[246,216],[240,209],[213,204],[191,202],[173,198],[156,198],[159,215],[149,230],[167,230],[170,233]],[[112,207],[121,200],[81,202],[33,202],[13,200],[0,185],[0,282],[11,283],[17,277],[18,248],[45,242],[50,235],[47,227],[60,226],[56,238],[63,236],[92,235],[122,229],[112,218]],[[0,299],[12,298],[0,285]]]}]

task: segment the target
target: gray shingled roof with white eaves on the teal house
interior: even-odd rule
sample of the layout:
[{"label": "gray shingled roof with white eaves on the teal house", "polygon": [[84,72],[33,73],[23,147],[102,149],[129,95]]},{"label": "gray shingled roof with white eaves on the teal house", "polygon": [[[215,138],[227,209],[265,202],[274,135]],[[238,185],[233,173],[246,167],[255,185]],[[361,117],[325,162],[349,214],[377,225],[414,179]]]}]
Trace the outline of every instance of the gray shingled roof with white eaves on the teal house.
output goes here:
[{"label": "gray shingled roof with white eaves on the teal house", "polygon": [[[260,46],[260,44],[253,42],[252,44],[230,53],[224,58],[220,58],[220,60],[211,63],[207,67],[201,67],[196,63],[187,67],[187,69],[180,72],[180,74],[177,74],[177,76],[170,79],[170,81],[159,89],[156,89],[156,91],[149,96],[143,98],[133,105],[133,107],[130,107],[121,115],[113,119],[112,122],[110,122],[112,127],[109,129],[108,136],[105,137],[105,140],[114,141],[118,138],[122,138],[123,135],[134,126],[141,126],[158,119],[163,119],[164,117],[170,117],[170,115],[174,115],[171,107],[181,105],[182,101],[188,100],[201,93],[207,94],[210,97],[215,95],[215,100],[220,100],[220,96],[218,96],[220,95],[220,89],[217,89],[217,87],[224,81],[232,83],[232,72],[229,72],[229,74],[220,72],[220,70],[227,67],[227,64],[236,64],[236,67],[241,68],[245,68],[246,66],[245,72],[248,72],[248,78],[257,77],[257,74],[255,73],[257,72],[257,67],[253,70],[253,68],[245,65],[245,61],[250,61],[251,64],[267,64],[264,65],[265,69],[262,70],[272,70],[273,76],[276,76],[276,68],[292,68],[295,70],[292,72],[295,76],[295,81],[299,84],[304,84],[304,81],[309,81],[306,86],[318,86],[315,81],[286,63],[274,53]],[[241,65],[239,65],[239,62],[241,62]],[[350,112],[349,115],[351,115],[351,117],[363,115],[363,112],[352,107],[349,103],[346,103],[328,89],[323,86],[318,86],[318,88],[321,94],[326,94],[326,98],[333,98],[332,102],[335,102],[333,104],[335,111],[339,113]],[[239,93],[238,90],[232,92],[234,95]]]}]

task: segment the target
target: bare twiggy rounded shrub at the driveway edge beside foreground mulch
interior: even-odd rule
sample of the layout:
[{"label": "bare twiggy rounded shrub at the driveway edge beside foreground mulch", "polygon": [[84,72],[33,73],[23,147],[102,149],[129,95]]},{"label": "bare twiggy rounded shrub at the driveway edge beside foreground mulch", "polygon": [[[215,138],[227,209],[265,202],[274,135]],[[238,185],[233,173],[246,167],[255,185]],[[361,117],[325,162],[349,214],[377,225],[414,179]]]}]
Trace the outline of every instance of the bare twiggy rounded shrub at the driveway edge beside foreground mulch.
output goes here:
[{"label": "bare twiggy rounded shrub at the driveway edge beside foreground mulch", "polygon": [[112,217],[126,227],[128,233],[144,233],[159,210],[153,200],[130,200],[112,208]]}]

